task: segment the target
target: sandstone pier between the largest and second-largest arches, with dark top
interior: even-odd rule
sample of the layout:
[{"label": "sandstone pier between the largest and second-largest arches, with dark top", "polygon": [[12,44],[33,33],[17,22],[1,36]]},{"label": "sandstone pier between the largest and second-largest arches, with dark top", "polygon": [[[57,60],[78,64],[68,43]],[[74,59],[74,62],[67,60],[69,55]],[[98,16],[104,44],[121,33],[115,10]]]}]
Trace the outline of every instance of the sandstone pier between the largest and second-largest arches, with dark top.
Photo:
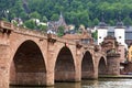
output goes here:
[{"label": "sandstone pier between the largest and second-largest arches, with dark top", "polygon": [[46,86],[54,85],[54,43],[56,42],[55,38],[52,38],[51,34],[47,38],[47,70],[46,70]]}]

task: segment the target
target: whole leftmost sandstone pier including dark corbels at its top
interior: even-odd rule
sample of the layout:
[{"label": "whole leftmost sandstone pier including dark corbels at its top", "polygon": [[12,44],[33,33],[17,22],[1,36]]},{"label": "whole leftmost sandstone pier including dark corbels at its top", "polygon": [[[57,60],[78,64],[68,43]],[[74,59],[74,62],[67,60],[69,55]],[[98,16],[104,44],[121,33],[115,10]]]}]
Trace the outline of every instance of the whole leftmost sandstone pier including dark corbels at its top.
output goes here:
[{"label": "whole leftmost sandstone pier including dark corbels at its top", "polygon": [[10,30],[0,28],[0,88],[9,88],[10,33]]}]

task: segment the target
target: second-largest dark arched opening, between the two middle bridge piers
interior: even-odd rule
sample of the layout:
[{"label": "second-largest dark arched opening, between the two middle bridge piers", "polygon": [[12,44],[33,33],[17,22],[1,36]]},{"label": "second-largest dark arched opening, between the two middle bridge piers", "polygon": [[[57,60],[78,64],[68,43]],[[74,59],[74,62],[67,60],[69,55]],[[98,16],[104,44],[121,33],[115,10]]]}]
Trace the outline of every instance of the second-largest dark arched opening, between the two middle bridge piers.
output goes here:
[{"label": "second-largest dark arched opening, between the two middle bridge piers", "polygon": [[63,47],[57,56],[55,81],[75,81],[75,64],[68,47]]}]

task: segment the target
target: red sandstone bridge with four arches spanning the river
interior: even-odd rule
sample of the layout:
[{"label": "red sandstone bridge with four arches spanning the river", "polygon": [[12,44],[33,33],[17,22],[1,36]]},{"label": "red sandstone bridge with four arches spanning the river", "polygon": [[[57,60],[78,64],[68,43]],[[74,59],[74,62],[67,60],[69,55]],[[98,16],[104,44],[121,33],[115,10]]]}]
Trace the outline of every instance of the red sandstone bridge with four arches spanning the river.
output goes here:
[{"label": "red sandstone bridge with four arches spanning the river", "polygon": [[0,22],[0,88],[96,79],[106,66],[106,55],[95,45]]}]

